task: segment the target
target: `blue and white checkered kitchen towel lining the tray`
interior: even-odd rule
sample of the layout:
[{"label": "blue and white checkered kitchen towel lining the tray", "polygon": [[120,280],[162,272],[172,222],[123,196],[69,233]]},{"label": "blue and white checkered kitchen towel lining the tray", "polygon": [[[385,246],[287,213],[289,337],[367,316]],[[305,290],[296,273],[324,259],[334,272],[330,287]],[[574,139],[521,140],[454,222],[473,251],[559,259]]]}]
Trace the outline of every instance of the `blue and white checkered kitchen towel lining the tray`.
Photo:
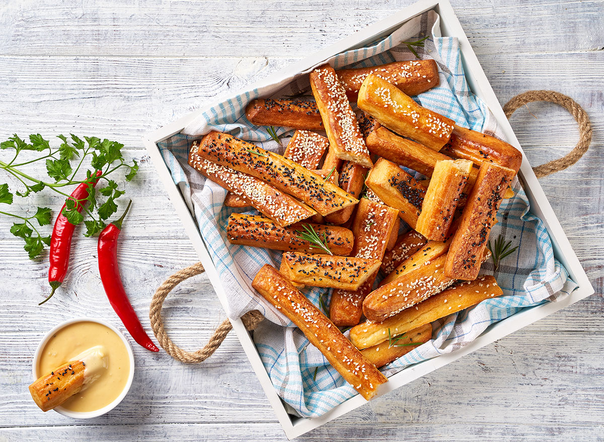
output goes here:
[{"label": "blue and white checkered kitchen towel lining the tray", "polygon": [[[431,34],[429,34],[431,33]],[[421,58],[434,59],[439,65],[440,86],[424,92],[416,101],[429,109],[452,118],[457,124],[481,132],[501,136],[496,121],[481,100],[475,97],[464,77],[458,40],[440,37],[439,16],[428,11],[411,19],[390,36],[369,45],[327,60],[332,66],[374,66],[396,60],[414,59],[403,42],[430,35],[423,48],[417,47]],[[310,71],[310,69],[309,69]],[[254,275],[271,263],[278,268],[281,252],[231,245],[226,240],[228,216],[234,209],[223,207],[225,190],[206,181],[187,165],[191,141],[210,130],[231,134],[255,142],[265,149],[281,152],[283,147],[271,141],[265,127],[256,127],[245,118],[245,106],[257,97],[282,98],[309,94],[306,72],[281,83],[254,89],[223,101],[205,111],[197,121],[178,135],[158,144],[166,164],[172,171],[220,275],[228,297],[227,314],[238,318],[252,309],[259,309],[268,321],[254,331],[257,350],[279,396],[298,414],[318,417],[356,394],[355,389],[327,363],[315,347],[291,322],[277,312],[251,288]],[[278,134],[286,141],[292,130],[279,127]],[[385,374],[396,373],[410,364],[457,350],[477,338],[484,329],[513,315],[524,307],[556,301],[568,296],[576,284],[567,271],[554,259],[545,226],[530,213],[528,199],[516,179],[516,195],[504,200],[498,214],[499,223],[492,237],[503,235],[519,248],[505,258],[497,271],[492,262],[483,264],[483,274],[494,274],[504,296],[488,299],[472,309],[436,321],[432,340],[385,367]],[[304,294],[315,305],[324,289],[307,288]]]}]

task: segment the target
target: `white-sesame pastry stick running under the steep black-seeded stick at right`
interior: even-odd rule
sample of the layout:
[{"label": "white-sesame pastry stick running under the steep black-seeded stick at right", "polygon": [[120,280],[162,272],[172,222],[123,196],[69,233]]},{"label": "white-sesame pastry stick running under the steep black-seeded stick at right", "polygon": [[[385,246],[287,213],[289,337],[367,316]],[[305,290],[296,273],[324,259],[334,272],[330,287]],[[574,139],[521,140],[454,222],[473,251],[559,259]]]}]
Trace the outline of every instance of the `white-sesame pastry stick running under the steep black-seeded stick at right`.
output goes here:
[{"label": "white-sesame pastry stick running under the steep black-seeded stick at right", "polygon": [[[490,252],[484,252],[482,260],[487,260]],[[443,255],[425,265],[402,275],[391,283],[379,287],[367,295],[363,301],[365,318],[371,321],[384,321],[436,293],[440,293],[455,283],[455,278],[445,275]]]}]

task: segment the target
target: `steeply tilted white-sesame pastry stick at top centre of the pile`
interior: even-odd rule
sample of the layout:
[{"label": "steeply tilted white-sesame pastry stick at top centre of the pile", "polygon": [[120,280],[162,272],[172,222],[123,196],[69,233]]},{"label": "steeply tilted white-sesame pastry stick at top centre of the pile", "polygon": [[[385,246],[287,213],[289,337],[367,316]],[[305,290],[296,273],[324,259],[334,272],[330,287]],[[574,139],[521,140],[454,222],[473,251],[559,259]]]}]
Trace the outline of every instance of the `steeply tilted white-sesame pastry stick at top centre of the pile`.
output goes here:
[{"label": "steeply tilted white-sesame pastry stick at top centre of the pile", "polygon": [[310,86],[336,156],[363,167],[371,167],[373,162],[359,130],[355,112],[350,107],[344,87],[333,68],[324,65],[310,72]]}]

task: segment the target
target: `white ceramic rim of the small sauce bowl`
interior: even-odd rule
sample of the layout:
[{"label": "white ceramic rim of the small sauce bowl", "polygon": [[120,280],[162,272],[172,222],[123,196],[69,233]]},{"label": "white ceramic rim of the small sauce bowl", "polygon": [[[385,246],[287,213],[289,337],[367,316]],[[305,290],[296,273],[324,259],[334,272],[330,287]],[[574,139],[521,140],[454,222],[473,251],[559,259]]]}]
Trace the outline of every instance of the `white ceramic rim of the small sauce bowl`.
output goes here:
[{"label": "white ceramic rim of the small sauce bowl", "polygon": [[128,380],[126,381],[126,385],[124,386],[123,391],[120,393],[120,396],[116,397],[114,402],[110,403],[109,405],[104,406],[101,409],[95,410],[95,411],[71,411],[71,410],[63,408],[62,406],[53,408],[54,411],[56,411],[57,413],[62,414],[67,417],[73,417],[76,419],[89,419],[91,417],[97,417],[97,416],[103,415],[103,414],[111,411],[118,405],[118,403],[120,403],[124,399],[124,397],[126,397],[126,394],[128,393],[130,386],[132,385],[132,379],[134,378],[134,354],[132,353],[132,346],[130,345],[130,342],[128,342],[128,340],[126,339],[126,336],[124,336],[123,333],[121,333],[121,331],[118,330],[117,328],[115,328],[113,325],[109,324],[109,322],[103,321],[103,319],[96,319],[96,318],[69,319],[68,321],[61,322],[59,325],[54,327],[52,330],[48,331],[48,333],[44,336],[44,339],[42,339],[42,341],[38,345],[38,347],[36,349],[36,353],[34,353],[33,365],[31,367],[31,373],[33,374],[34,380],[36,380],[38,378],[38,374],[36,373],[36,368],[37,368],[38,360],[40,358],[40,352],[47,344],[48,339],[50,339],[50,337],[53,336],[54,333],[59,331],[61,328],[66,327],[66,325],[69,325],[69,324],[74,324],[74,322],[97,322],[98,324],[111,328],[111,330],[115,331],[115,333],[118,336],[120,336],[120,339],[122,342],[124,342],[124,345],[126,345],[126,351],[128,352],[128,356],[130,359],[130,373],[128,376]]}]

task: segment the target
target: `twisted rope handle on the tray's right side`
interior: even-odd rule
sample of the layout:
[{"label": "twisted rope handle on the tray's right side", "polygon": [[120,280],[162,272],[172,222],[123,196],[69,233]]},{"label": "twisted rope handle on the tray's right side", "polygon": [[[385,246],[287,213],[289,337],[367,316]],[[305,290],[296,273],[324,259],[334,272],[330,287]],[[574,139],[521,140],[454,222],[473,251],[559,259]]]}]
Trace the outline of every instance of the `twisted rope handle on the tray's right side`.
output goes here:
[{"label": "twisted rope handle on the tray's right side", "polygon": [[508,101],[505,106],[503,106],[503,111],[509,119],[516,109],[527,103],[532,103],[533,101],[550,101],[551,103],[559,104],[559,106],[564,107],[564,109],[570,112],[577,123],[579,123],[579,143],[577,143],[577,146],[575,146],[573,150],[562,158],[554,159],[553,161],[533,167],[533,171],[537,178],[542,178],[559,170],[564,170],[579,161],[579,158],[581,158],[583,154],[587,152],[587,148],[590,147],[592,129],[590,117],[588,117],[587,112],[585,112],[573,98],[561,94],[560,92],[527,91],[523,94],[516,95],[512,100]]}]

